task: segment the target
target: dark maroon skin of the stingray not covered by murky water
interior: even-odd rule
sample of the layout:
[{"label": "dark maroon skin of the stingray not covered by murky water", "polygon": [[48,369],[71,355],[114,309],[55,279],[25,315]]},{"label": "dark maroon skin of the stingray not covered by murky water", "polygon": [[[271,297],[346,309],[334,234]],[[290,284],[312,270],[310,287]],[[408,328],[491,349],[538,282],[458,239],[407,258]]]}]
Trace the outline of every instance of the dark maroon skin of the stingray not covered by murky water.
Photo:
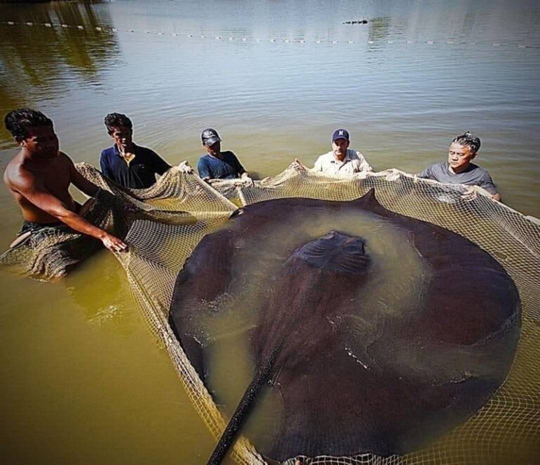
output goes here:
[{"label": "dark maroon skin of the stingray not covered by murky water", "polygon": [[[174,289],[171,326],[204,379],[204,350],[193,334],[183,330],[183,322],[196,318],[201,300],[217,299],[229,288],[239,239],[245,234],[256,238],[258,231],[272,228],[276,221],[325,208],[348,215],[367,211],[392,222],[408,232],[431,269],[425,308],[413,324],[397,321],[385,330],[370,347],[373,354],[383,354],[385,346],[404,341],[419,350],[464,348],[487,362],[492,353],[497,367],[489,376],[464,373],[458,379],[430,382],[395,373],[382,359],[379,369],[360,366],[345,351],[347,328],[330,327],[325,320],[334,313],[369,311],[347,308],[348,291],[343,293],[346,287],[368,292],[369,286],[364,285],[362,273],[346,273],[349,255],[333,262],[331,248],[325,253],[319,247],[321,239],[313,241],[285,262],[275,280],[278,289],[268,295],[268,308],[261,311],[252,339],[256,366],[260,369],[271,361],[266,373],[259,379],[255,376],[255,385],[260,388],[270,380],[281,393],[285,411],[281,430],[260,452],[274,460],[296,455],[407,453],[482,407],[504,381],[514,357],[521,326],[517,289],[504,269],[467,239],[389,212],[376,202],[373,192],[347,203],[281,199],[254,204],[234,215],[226,230],[205,237],[188,259]],[[362,240],[354,240],[357,255],[365,257],[359,247]],[[356,262],[353,268],[358,266]],[[328,286],[317,273],[353,281],[349,286]]]}]

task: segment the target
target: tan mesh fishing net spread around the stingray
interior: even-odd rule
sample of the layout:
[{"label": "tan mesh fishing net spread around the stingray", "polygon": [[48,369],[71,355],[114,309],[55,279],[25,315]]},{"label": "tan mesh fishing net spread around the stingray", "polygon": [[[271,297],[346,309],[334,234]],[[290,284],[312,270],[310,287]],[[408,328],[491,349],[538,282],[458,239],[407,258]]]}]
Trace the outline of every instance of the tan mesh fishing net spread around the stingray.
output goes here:
[{"label": "tan mesh fishing net spread around the stingray", "polygon": [[[205,234],[227,221],[236,205],[287,197],[347,201],[375,188],[377,200],[388,210],[461,234],[505,268],[522,302],[521,337],[514,363],[507,380],[478,413],[428,447],[402,456],[299,456],[285,463],[293,465],[301,459],[304,464],[502,464],[534,463],[540,457],[540,225],[533,219],[493,201],[480,188],[443,185],[397,170],[343,180],[295,163],[254,185],[220,181],[209,186],[174,167],[153,187],[127,191],[89,165],[80,164],[78,169],[114,194],[114,199],[102,202],[107,211],[103,224],[120,231],[130,246],[117,258],[151,332],[167,349],[193,406],[216,439],[226,419],[168,325],[174,283],[185,260]],[[61,245],[62,240],[56,244]],[[50,251],[53,246],[48,247]],[[26,248],[13,251],[11,257],[20,253],[19,259],[24,261],[30,253]],[[474,280],[474,276],[468,278]],[[231,456],[238,463],[265,463],[243,437],[235,443]]]}]

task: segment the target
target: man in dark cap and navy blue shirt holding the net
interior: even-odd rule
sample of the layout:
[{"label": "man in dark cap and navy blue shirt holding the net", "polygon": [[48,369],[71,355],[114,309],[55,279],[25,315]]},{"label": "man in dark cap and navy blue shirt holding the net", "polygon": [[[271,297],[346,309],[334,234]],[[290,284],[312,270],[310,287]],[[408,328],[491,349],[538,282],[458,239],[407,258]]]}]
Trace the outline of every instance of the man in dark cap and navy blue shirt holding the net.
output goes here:
[{"label": "man in dark cap and navy blue shirt holding the net", "polygon": [[205,129],[201,133],[201,140],[207,152],[206,155],[199,158],[197,164],[197,170],[201,178],[205,181],[240,178],[242,181],[246,181],[247,184],[253,183],[244,166],[233,152],[221,152],[221,139],[217,131],[211,128]]}]

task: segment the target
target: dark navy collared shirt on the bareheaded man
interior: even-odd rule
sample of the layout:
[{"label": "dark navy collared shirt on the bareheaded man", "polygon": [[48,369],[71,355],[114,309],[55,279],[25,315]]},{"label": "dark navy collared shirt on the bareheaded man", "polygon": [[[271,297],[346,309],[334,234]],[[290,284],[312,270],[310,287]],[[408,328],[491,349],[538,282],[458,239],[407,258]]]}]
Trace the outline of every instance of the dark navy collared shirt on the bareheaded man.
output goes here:
[{"label": "dark navy collared shirt on the bareheaded man", "polygon": [[153,150],[134,145],[134,157],[126,160],[114,144],[99,158],[102,173],[120,186],[143,189],[156,183],[156,173],[163,174],[171,166]]}]

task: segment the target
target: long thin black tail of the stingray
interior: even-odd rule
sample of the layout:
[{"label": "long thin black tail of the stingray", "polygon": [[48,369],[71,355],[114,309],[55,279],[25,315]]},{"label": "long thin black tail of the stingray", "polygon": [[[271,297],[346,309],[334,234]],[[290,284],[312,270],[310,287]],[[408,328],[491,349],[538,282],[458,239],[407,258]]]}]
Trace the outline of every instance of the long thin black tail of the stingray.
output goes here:
[{"label": "long thin black tail of the stingray", "polygon": [[238,407],[234,410],[231,420],[229,420],[227,427],[219,438],[219,442],[208,460],[207,465],[219,465],[227,450],[232,446],[234,439],[238,433],[238,430],[244,423],[244,420],[251,409],[255,398],[259,394],[261,387],[265,385],[268,380],[268,375],[274,366],[274,362],[281,349],[281,343],[276,345],[273,351],[270,353],[264,363],[261,364],[251,383],[246,389],[246,392],[242,396],[242,399],[238,403]]}]

